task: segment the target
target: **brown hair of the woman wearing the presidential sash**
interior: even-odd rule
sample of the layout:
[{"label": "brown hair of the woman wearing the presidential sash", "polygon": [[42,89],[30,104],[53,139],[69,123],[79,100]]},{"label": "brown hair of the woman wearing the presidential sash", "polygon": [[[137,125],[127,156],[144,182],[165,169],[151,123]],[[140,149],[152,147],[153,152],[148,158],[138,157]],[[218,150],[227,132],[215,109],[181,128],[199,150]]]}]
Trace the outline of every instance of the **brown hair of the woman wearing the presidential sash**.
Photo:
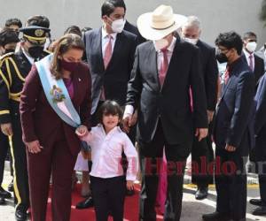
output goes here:
[{"label": "brown hair of the woman wearing the presidential sash", "polygon": [[59,56],[62,56],[71,49],[85,49],[82,38],[77,34],[66,34],[62,36],[56,43],[54,55],[51,61],[51,74],[54,75],[57,80],[62,78],[61,67],[59,65]]}]

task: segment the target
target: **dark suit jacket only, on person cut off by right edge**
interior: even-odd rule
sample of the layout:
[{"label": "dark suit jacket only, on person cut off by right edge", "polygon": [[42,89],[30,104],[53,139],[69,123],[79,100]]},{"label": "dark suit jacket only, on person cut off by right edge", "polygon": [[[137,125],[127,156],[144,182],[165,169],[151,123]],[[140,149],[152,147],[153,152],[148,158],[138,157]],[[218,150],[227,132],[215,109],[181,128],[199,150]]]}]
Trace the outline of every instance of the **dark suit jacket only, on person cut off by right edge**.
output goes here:
[{"label": "dark suit jacket only, on person cut off by right edge", "polygon": [[256,111],[254,120],[254,160],[266,160],[266,74],[262,76],[255,95]]}]

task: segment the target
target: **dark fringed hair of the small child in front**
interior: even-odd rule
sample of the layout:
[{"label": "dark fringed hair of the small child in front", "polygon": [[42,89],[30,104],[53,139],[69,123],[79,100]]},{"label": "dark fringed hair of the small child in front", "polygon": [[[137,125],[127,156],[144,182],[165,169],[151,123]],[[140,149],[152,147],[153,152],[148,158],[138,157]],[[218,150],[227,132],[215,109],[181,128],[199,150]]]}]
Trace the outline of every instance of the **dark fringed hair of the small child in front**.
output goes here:
[{"label": "dark fringed hair of the small child in front", "polygon": [[101,124],[103,124],[103,116],[108,114],[118,115],[118,118],[121,120],[123,111],[121,110],[121,106],[117,102],[107,100],[100,106],[98,110],[98,120]]}]

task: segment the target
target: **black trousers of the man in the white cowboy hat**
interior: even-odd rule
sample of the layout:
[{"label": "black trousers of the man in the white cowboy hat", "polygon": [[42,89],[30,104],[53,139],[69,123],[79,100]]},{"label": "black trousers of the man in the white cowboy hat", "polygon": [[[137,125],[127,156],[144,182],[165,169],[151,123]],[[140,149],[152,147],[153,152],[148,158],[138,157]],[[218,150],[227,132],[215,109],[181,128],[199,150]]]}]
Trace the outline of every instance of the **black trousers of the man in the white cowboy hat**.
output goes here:
[{"label": "black trousers of the man in the white cowboy hat", "polygon": [[160,162],[165,147],[168,160],[168,190],[164,220],[178,221],[182,210],[184,167],[192,149],[192,141],[176,145],[168,144],[159,121],[153,141],[150,143],[138,141],[138,144],[142,172],[139,219],[156,220],[154,207],[160,177]]}]

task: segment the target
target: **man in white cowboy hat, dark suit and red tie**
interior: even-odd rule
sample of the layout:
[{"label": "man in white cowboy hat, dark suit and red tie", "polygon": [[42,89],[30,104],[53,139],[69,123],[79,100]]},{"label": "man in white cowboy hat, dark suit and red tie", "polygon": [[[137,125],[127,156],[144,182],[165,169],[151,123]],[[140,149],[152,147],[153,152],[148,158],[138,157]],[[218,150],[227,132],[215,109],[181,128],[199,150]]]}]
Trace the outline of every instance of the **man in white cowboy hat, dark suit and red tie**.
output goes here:
[{"label": "man in white cowboy hat, dark suit and red tie", "polygon": [[185,20],[166,5],[137,19],[140,34],[151,41],[137,47],[123,125],[129,129],[132,113],[138,108],[137,141],[143,174],[140,220],[156,220],[154,206],[163,148],[168,160],[164,220],[180,219],[184,166],[193,137],[200,141],[207,136],[207,101],[200,51],[178,35],[174,36]]}]

